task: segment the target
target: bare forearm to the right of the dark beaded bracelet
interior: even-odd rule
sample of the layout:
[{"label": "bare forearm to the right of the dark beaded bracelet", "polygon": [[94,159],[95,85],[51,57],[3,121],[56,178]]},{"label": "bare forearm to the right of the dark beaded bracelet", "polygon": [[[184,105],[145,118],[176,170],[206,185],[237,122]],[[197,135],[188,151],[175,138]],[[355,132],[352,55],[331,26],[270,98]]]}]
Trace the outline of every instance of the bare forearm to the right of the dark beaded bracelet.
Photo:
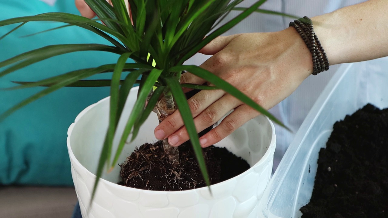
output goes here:
[{"label": "bare forearm to the right of the dark beaded bracelet", "polygon": [[387,0],[369,0],[312,21],[331,65],[388,56]]}]

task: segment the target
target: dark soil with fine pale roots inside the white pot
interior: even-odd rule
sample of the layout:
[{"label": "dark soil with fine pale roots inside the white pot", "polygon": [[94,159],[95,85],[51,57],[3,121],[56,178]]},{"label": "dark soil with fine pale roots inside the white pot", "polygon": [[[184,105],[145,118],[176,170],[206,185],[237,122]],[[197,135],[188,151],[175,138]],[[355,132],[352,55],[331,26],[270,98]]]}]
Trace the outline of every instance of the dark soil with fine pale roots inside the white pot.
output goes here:
[{"label": "dark soil with fine pale roots inside the white pot", "polygon": [[[197,90],[186,93],[187,99]],[[212,129],[212,126],[199,133],[199,137]],[[161,141],[144,144],[137,148],[121,164],[120,185],[145,190],[178,191],[205,187],[201,171],[192,146],[186,142],[178,147],[180,164],[175,166],[168,161]],[[229,152],[226,148],[210,146],[203,149],[210,183],[216,184],[237,176],[249,169],[249,164]]]}]

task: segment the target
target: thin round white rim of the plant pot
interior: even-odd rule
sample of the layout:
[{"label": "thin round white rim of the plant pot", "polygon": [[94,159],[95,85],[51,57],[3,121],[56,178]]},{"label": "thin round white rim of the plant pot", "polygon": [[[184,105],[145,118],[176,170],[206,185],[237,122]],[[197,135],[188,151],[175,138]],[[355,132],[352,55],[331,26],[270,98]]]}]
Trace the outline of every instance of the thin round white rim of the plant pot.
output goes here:
[{"label": "thin round white rim of the plant pot", "polygon": [[[139,89],[139,87],[132,87],[131,90],[137,90]],[[106,101],[109,101],[110,99],[110,96],[108,97],[105,97],[104,99],[101,99],[99,100],[98,102],[94,103],[94,104],[91,104],[90,106],[86,107],[85,109],[83,109],[77,116],[76,118],[74,119],[74,123],[71,123],[71,125],[69,126],[68,128],[68,137],[67,137],[67,140],[66,140],[66,143],[67,143],[67,147],[68,147],[68,153],[69,153],[69,157],[70,157],[70,161],[71,161],[71,165],[76,165],[78,166],[78,168],[81,168],[82,170],[85,170],[88,174],[92,175],[92,177],[96,177],[96,175],[92,172],[90,172],[87,168],[85,168],[79,161],[78,159],[75,157],[72,149],[71,149],[71,145],[70,145],[70,138],[71,138],[71,133],[73,132],[73,129],[74,129],[74,126],[77,124],[77,122],[81,119],[82,116],[84,116],[90,109],[92,109],[93,107],[95,107],[96,105],[98,104],[103,104],[104,102]],[[263,116],[263,115],[259,115],[259,116]],[[250,170],[252,170],[253,168],[255,168],[255,166],[258,166],[260,164],[263,164],[265,161],[267,161],[268,159],[270,159],[270,155],[273,156],[274,152],[275,152],[275,145],[276,145],[276,135],[275,135],[275,126],[274,124],[272,123],[272,121],[267,117],[265,116],[265,118],[268,120],[270,126],[271,126],[271,129],[272,129],[272,136],[271,136],[271,141],[270,141],[270,145],[268,146],[267,148],[267,151],[264,153],[263,157],[256,163],[254,164],[253,166],[250,166],[248,170],[244,171],[243,173],[237,175],[237,176],[234,176],[233,178],[230,178],[228,180],[225,180],[223,182],[219,182],[217,184],[214,184],[214,185],[210,185],[210,189],[213,190],[213,189],[218,189],[218,187],[222,186],[223,184],[225,183],[228,183],[228,182],[231,182],[232,180],[234,180],[235,178],[237,177],[243,177],[245,176]],[[113,186],[114,188],[117,188],[117,189],[126,189],[126,190],[140,190],[142,192],[145,192],[145,193],[180,193],[180,194],[184,194],[184,193],[189,193],[189,192],[199,192],[199,191],[203,191],[203,190],[209,190],[208,187],[201,187],[201,188],[197,188],[197,189],[189,189],[189,190],[180,190],[180,191],[156,191],[156,190],[145,190],[145,189],[136,189],[136,188],[132,188],[132,187],[126,187],[126,186],[123,186],[123,185],[118,185],[116,183],[113,183],[113,182],[110,182],[108,180],[105,180],[103,178],[100,178],[100,183],[105,183],[106,185],[110,185],[110,186]],[[98,187],[97,187],[97,190],[98,190]]]}]

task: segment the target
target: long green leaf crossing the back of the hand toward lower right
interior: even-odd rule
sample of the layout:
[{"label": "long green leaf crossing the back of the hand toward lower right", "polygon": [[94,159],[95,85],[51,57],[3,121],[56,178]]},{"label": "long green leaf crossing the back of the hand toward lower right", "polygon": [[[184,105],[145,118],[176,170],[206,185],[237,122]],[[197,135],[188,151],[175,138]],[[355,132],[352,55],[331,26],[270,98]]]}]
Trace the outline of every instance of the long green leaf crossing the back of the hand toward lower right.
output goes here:
[{"label": "long green leaf crossing the back of the hand toward lower right", "polygon": [[240,92],[237,88],[230,85],[230,83],[228,83],[227,81],[222,80],[221,78],[219,78],[215,74],[210,73],[209,71],[207,71],[201,67],[194,66],[194,65],[182,65],[182,66],[171,67],[169,71],[171,71],[171,72],[189,71],[190,73],[192,73],[200,78],[203,78],[204,80],[210,82],[211,84],[214,84],[216,87],[222,88],[225,92],[229,93],[230,95],[233,95],[234,97],[241,100],[242,102],[244,102],[248,106],[252,107],[256,111],[267,116],[269,119],[271,119],[275,123],[281,125],[282,127],[286,128],[287,130],[289,130],[289,128],[287,128],[283,123],[281,123],[278,119],[276,119],[275,116],[273,116],[268,111],[263,109],[263,107],[258,105],[255,101],[250,99],[244,93]]}]

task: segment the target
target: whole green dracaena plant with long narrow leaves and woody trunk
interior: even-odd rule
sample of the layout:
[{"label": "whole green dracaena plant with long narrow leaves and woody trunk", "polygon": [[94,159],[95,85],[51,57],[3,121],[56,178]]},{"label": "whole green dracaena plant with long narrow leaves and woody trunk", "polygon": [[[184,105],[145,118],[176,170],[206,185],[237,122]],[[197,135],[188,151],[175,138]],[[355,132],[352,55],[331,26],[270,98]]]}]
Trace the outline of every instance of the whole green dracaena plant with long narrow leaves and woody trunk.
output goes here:
[{"label": "whole green dracaena plant with long narrow leaves and woody trunk", "polygon": [[[17,82],[20,86],[10,89],[37,86],[47,88],[10,108],[0,115],[0,119],[62,87],[110,86],[109,127],[99,159],[94,192],[104,167],[112,168],[115,166],[128,137],[132,134],[131,141],[136,137],[140,126],[151,112],[156,112],[161,121],[177,109],[180,110],[204,180],[209,186],[204,157],[182,87],[223,89],[245,104],[265,114],[274,122],[282,124],[226,81],[198,66],[184,65],[183,63],[211,40],[225,33],[255,10],[279,14],[258,9],[265,1],[260,0],[249,8],[236,8],[235,10],[242,10],[241,14],[223,25],[218,24],[242,0],[128,0],[130,5],[129,13],[124,0],[112,0],[113,6],[107,3],[106,0],[85,0],[97,14],[97,19],[88,19],[67,13],[45,13],[0,21],[0,26],[20,23],[12,31],[30,21],[63,22],[66,25],[59,28],[66,26],[85,28],[105,38],[109,43],[109,45],[50,45],[32,50],[1,62],[0,68],[5,66],[8,66],[8,68],[0,72],[0,77],[35,62],[71,52],[97,50],[120,55],[116,63],[80,69],[35,82]],[[216,28],[217,26],[220,27]],[[208,33],[210,34],[206,36]],[[128,59],[134,60],[135,63],[126,63]],[[180,84],[180,75],[185,71],[205,79],[212,86]],[[84,80],[94,74],[107,72],[113,72],[111,80]],[[126,75],[125,80],[120,80],[122,74]],[[141,79],[138,80],[140,77]],[[116,151],[112,151],[113,137],[125,101],[130,89],[137,83],[139,84],[137,100],[128,120],[126,120],[118,148]],[[177,148],[171,147],[167,140],[163,141],[163,147],[171,163],[179,164]],[[111,159],[113,152],[114,156]]]}]

